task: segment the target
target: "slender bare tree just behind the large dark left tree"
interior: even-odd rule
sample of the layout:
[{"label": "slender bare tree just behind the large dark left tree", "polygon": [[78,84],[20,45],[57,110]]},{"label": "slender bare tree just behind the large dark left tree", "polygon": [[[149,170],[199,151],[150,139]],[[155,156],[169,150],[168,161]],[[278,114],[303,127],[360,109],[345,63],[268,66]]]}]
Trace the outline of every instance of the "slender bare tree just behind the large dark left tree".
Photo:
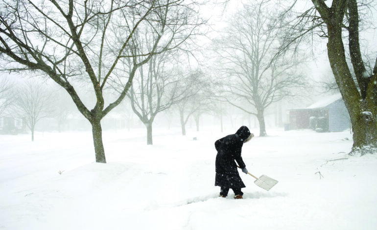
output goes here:
[{"label": "slender bare tree just behind the large dark left tree", "polygon": [[134,113],[147,129],[147,144],[153,144],[152,124],[157,114],[169,109],[186,95],[189,89],[187,77],[165,55],[154,56],[140,68],[131,86],[129,97]]}]

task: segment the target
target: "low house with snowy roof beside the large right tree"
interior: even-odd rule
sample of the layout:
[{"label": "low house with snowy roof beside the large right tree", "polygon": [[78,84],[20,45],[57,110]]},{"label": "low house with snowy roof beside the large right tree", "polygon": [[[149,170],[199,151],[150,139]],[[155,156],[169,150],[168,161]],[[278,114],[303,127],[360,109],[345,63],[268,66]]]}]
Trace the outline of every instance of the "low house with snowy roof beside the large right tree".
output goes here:
[{"label": "low house with snowy roof beside the large right tree", "polygon": [[[288,111],[289,130],[340,132],[350,128],[350,116],[340,93],[327,96],[305,109]],[[287,129],[287,128],[286,128]]]}]

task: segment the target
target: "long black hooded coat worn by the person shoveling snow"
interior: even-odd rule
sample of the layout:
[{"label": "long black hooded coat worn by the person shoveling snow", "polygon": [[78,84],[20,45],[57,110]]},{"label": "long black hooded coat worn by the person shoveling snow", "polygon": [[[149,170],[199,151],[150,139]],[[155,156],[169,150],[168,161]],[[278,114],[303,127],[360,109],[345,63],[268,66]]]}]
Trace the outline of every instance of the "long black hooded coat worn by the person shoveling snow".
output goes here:
[{"label": "long black hooded coat worn by the person shoveling snow", "polygon": [[237,161],[239,167],[246,167],[241,157],[241,150],[243,141],[249,136],[249,129],[246,126],[242,126],[236,134],[228,135],[215,141],[214,145],[217,150],[215,186],[228,188],[246,187],[239,176],[235,161]]}]

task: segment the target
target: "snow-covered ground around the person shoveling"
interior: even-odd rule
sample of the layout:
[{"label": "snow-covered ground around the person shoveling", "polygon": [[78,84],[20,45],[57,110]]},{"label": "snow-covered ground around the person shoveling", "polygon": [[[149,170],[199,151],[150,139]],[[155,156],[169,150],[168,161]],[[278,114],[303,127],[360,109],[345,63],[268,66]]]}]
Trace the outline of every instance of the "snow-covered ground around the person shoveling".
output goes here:
[{"label": "snow-covered ground around the person shoveling", "polygon": [[349,131],[253,138],[247,169],[279,183],[265,191],[240,172],[243,200],[232,190],[219,198],[213,185],[213,143],[234,132],[156,129],[151,146],[144,129],[106,131],[107,164],[94,162],[91,132],[2,135],[0,229],[376,229],[377,154],[348,156]]}]

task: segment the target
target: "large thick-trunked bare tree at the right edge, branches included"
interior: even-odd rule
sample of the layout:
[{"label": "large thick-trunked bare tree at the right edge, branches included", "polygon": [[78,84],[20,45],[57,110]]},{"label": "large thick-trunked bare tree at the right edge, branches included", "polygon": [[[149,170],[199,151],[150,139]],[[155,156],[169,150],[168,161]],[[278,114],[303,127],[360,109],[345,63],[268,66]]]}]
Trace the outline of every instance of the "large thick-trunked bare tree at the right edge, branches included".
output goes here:
[{"label": "large thick-trunked bare tree at the right edge, branches included", "polygon": [[[328,41],[332,73],[351,117],[351,154],[371,152],[370,148],[377,146],[377,59],[372,65],[365,64],[367,53],[362,52],[362,49],[368,50],[368,47],[361,45],[359,31],[373,23],[366,19],[372,14],[376,2],[312,0],[312,3],[313,7],[297,17],[297,20],[289,21],[295,33],[286,37],[289,39],[286,39],[281,50],[297,44],[308,34],[319,35]],[[347,64],[348,60],[351,60],[351,66]]]}]

